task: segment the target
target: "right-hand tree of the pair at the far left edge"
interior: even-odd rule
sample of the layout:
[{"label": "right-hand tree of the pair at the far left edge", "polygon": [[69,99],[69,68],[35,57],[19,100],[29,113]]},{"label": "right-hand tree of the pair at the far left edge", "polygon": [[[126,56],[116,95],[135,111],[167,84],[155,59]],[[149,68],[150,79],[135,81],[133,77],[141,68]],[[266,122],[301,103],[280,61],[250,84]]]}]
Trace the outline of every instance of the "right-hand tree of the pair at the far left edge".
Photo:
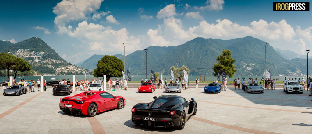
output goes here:
[{"label": "right-hand tree of the pair at the far left edge", "polygon": [[14,71],[14,79],[16,78],[17,72],[25,72],[30,71],[32,69],[32,66],[24,59],[16,57],[13,60],[13,71]]}]

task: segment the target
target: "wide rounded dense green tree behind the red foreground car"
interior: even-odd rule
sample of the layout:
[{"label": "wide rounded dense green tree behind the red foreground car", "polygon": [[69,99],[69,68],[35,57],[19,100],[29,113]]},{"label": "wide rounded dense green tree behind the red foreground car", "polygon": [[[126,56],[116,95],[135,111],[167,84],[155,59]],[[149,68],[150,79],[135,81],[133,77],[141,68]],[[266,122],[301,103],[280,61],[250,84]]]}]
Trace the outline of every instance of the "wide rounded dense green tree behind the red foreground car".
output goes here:
[{"label": "wide rounded dense green tree behind the red foreground car", "polygon": [[122,71],[124,70],[123,62],[116,56],[105,55],[96,64],[96,69],[94,69],[94,77],[102,77],[106,75],[106,81],[111,77],[120,78],[122,77]]}]

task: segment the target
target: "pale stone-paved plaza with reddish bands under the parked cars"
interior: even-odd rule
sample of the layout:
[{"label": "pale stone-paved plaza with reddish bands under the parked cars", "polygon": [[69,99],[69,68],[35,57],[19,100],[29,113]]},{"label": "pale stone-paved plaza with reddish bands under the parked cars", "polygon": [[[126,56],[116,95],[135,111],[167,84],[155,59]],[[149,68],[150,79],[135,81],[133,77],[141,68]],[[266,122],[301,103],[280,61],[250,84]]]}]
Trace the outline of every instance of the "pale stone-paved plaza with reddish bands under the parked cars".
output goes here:
[{"label": "pale stone-paved plaza with reddish bands under the parked cars", "polygon": [[[36,90],[21,96],[3,96],[1,93],[0,133],[312,133],[312,97],[308,92],[286,94],[278,88],[265,90],[264,94],[248,94],[234,90],[232,86],[229,88],[220,94],[205,94],[203,88],[182,90],[178,94],[165,93],[164,89],[156,89],[154,93],[138,93],[137,88],[108,91],[123,96],[125,107],[98,113],[92,118],[63,113],[59,102],[66,96],[53,96],[51,87],[46,92]],[[187,100],[195,98],[197,115],[186,122],[183,130],[134,125],[130,120],[131,108],[137,103],[151,102],[153,96],[159,95],[179,95]]]}]

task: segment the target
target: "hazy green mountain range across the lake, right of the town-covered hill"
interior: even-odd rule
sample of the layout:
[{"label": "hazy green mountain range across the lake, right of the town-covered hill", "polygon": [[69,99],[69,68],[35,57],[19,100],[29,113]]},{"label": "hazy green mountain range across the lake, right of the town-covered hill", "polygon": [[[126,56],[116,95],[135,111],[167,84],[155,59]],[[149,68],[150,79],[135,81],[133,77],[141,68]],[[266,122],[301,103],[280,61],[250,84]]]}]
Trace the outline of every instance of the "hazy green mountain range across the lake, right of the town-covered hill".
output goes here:
[{"label": "hazy green mountain range across the lake, right of the town-covered hill", "polygon": [[[186,65],[191,70],[190,74],[211,75],[212,67],[214,63],[217,63],[217,56],[223,49],[230,49],[232,58],[236,59],[234,63],[238,69],[236,75],[263,75],[265,44],[265,41],[246,36],[229,40],[195,38],[178,46],[150,46],[147,48],[147,70],[170,74],[170,67]],[[116,56],[124,60],[123,55]],[[94,69],[102,57],[103,55],[93,55],[79,66]],[[270,44],[267,44],[266,67],[273,76],[298,76],[306,73],[306,59],[288,60],[283,57]],[[125,61],[126,70],[138,74],[145,73],[144,50],[125,56]]]}]

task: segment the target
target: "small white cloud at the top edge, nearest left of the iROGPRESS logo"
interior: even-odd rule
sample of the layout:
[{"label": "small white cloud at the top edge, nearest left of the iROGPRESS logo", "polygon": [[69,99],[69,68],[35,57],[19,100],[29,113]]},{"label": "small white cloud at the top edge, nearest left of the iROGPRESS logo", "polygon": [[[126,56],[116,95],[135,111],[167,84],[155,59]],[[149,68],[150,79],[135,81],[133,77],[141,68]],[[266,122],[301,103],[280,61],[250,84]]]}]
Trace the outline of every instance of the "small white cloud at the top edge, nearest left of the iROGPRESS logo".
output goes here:
[{"label": "small white cloud at the top edge, nearest left of the iROGPRESS logo", "polygon": [[197,7],[194,6],[194,9],[200,9],[200,10],[208,10],[208,11],[212,11],[212,10],[222,10],[223,9],[223,4],[224,1],[223,0],[207,0],[206,1],[206,6],[205,7]]}]

